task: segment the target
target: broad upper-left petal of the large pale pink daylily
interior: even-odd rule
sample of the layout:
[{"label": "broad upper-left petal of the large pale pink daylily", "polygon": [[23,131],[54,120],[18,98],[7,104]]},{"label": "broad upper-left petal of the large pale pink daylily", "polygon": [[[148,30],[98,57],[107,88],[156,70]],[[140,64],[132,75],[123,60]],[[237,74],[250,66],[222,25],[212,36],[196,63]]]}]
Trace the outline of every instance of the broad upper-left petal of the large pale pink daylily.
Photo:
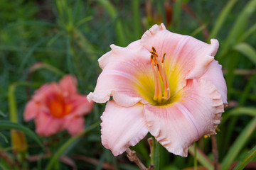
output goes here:
[{"label": "broad upper-left petal of the large pale pink daylily", "polygon": [[[127,47],[110,46],[112,51],[99,60],[103,71],[97,79],[95,91],[87,96],[88,101],[105,103],[113,96],[120,106],[133,106],[142,100],[135,88],[143,86],[138,74],[149,77],[153,77],[153,74],[150,53],[139,46],[139,42],[132,42]],[[154,89],[154,81],[151,86]]]}]

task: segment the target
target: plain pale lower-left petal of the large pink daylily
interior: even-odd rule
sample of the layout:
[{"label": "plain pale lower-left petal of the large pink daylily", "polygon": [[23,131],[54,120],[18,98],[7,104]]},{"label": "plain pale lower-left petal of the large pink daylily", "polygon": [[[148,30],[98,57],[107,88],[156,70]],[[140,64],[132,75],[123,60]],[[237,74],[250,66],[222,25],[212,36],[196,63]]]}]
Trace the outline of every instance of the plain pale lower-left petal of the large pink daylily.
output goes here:
[{"label": "plain pale lower-left petal of the large pink daylily", "polygon": [[128,147],[136,145],[147,132],[143,105],[125,108],[114,101],[108,101],[102,119],[102,145],[114,156],[122,154]]}]

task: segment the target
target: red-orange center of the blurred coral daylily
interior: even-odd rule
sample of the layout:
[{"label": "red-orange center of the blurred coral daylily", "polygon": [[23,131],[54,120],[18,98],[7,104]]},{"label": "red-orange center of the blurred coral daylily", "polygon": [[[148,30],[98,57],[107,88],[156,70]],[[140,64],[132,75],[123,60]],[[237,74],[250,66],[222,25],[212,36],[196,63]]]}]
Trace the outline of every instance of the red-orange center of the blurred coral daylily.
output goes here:
[{"label": "red-orange center of the blurred coral daylily", "polygon": [[65,115],[68,115],[71,111],[71,106],[64,101],[59,101],[53,99],[49,103],[50,115],[53,115],[55,118],[63,118]]}]

